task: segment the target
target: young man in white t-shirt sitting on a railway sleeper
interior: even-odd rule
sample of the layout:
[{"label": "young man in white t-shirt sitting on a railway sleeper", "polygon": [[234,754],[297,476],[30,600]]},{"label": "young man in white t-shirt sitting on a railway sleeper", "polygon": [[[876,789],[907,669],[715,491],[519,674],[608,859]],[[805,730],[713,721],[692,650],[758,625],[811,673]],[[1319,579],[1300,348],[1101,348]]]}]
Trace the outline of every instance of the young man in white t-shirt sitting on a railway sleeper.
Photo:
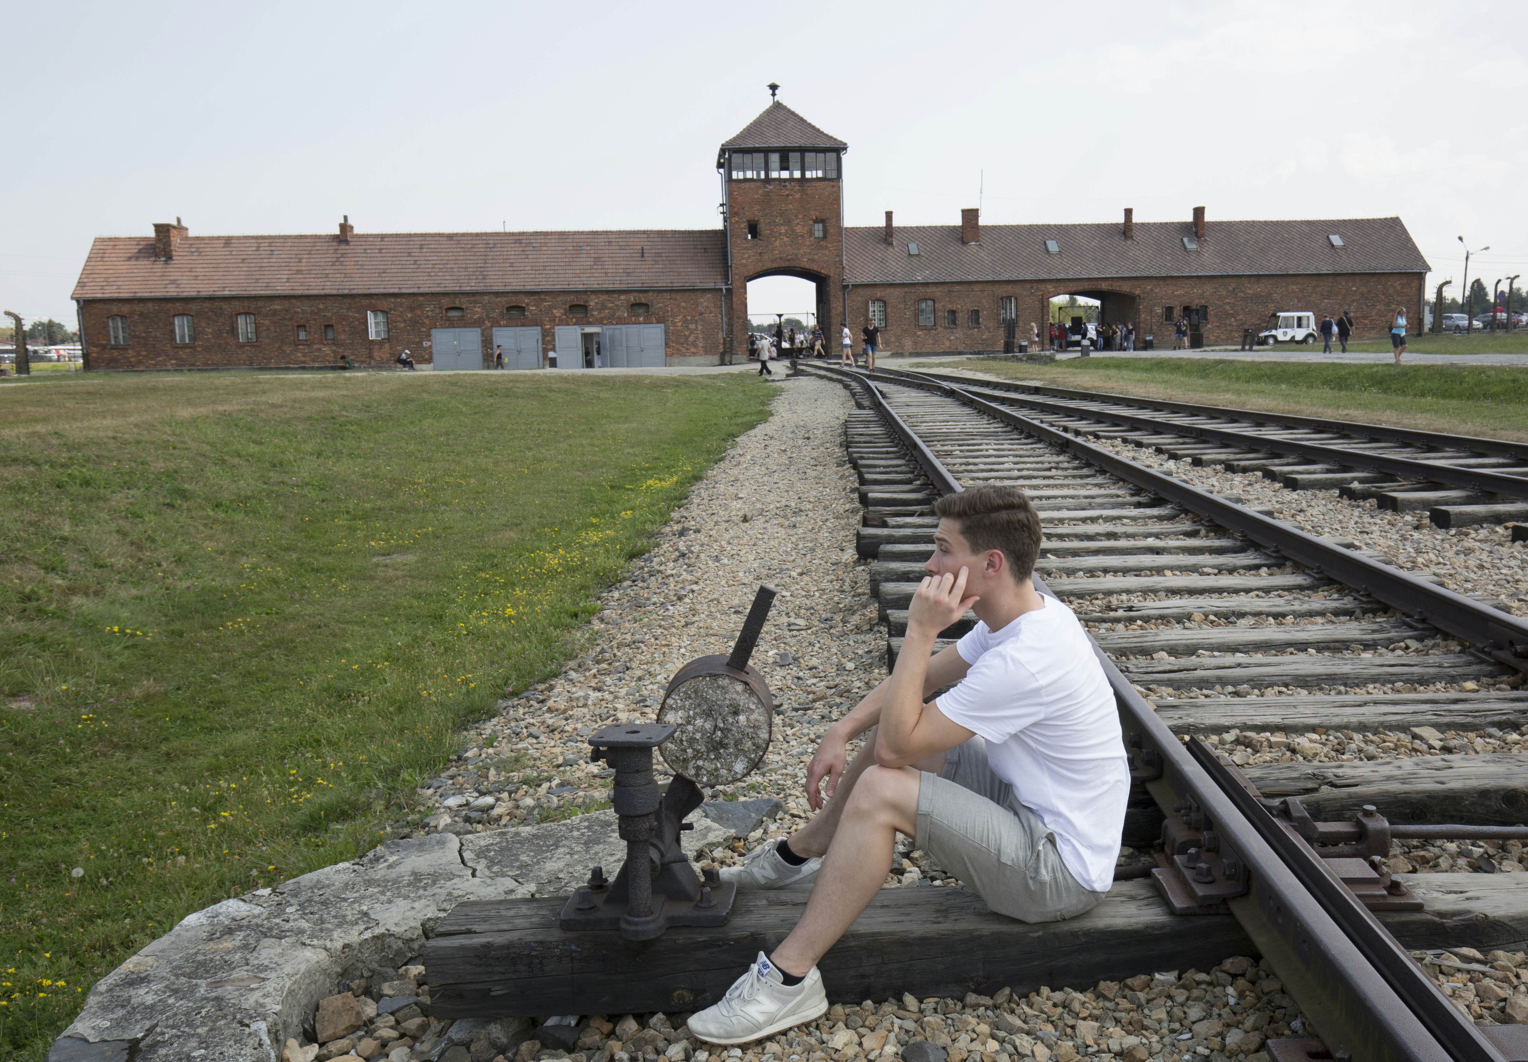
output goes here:
[{"label": "young man in white t-shirt sitting on a railway sleeper", "polygon": [[[1039,515],[1002,486],[940,498],[935,512],[929,576],[897,665],[828,729],[807,769],[817,814],[721,871],[738,888],[816,885],[773,955],[759,952],[720,1002],[689,1019],[701,1039],[743,1044],[827,1010],[817,960],[880,889],[898,833],[989,908],[1024,921],[1079,915],[1114,880],[1125,744],[1082,623],[1030,579]],[[967,608],[975,630],[931,659],[938,633]],[[847,763],[848,741],[871,727]]]}]

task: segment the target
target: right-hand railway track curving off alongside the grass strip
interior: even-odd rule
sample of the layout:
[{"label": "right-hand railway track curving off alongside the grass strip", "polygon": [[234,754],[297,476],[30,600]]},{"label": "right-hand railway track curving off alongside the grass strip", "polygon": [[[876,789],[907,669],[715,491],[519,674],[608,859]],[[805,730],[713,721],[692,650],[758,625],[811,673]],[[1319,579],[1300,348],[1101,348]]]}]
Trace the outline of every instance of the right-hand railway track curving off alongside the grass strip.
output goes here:
[{"label": "right-hand railway track curving off alongside the grass strip", "polygon": [[947,373],[882,374],[952,384],[1071,434],[1261,472],[1291,491],[1335,489],[1381,509],[1426,512],[1438,527],[1528,520],[1528,443]]}]

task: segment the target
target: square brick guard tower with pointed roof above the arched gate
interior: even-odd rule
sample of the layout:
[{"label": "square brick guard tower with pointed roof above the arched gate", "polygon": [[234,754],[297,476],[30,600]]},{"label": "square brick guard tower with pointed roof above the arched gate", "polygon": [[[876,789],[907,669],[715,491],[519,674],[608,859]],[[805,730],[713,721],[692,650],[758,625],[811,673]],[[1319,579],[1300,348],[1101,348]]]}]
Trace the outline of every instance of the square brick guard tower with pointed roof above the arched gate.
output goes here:
[{"label": "square brick guard tower with pointed roof above the arched gate", "polygon": [[[778,86],[770,86],[773,96]],[[817,286],[817,322],[837,350],[834,293],[843,283],[843,153],[778,99],[721,145],[727,229],[732,351],[747,350],[747,284],[759,277],[801,277]]]}]

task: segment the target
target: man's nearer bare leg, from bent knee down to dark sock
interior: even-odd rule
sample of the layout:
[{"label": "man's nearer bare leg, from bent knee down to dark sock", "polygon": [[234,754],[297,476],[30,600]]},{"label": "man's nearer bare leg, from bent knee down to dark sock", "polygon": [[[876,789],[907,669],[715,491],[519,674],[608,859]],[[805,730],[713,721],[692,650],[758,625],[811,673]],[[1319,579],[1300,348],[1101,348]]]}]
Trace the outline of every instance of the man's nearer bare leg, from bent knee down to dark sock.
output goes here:
[{"label": "man's nearer bare leg, from bent knee down to dark sock", "polygon": [[793,976],[804,976],[816,966],[880,891],[897,834],[917,833],[918,770],[865,769],[848,795],[840,784],[833,804],[843,807],[839,816],[843,828],[822,859],[805,914],[770,957]]}]

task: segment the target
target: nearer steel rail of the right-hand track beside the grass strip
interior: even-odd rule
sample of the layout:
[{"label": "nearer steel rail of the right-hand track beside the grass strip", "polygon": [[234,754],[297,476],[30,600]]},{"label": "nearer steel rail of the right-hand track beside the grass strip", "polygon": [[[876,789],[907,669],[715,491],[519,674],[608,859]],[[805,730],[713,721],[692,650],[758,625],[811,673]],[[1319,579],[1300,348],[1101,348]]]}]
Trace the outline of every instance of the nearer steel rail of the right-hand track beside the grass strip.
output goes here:
[{"label": "nearer steel rail of the right-hand track beside the grass strip", "polygon": [[[897,377],[911,379],[912,376],[915,376],[915,373],[909,373],[908,370],[889,370],[889,371],[897,373],[898,374]],[[944,384],[944,387],[957,387],[955,384],[949,384],[946,380],[937,380],[937,382]],[[975,380],[967,382],[966,385],[984,387],[983,384]],[[1528,477],[1522,475],[1504,475],[1500,472],[1488,472],[1484,469],[1468,469],[1445,463],[1418,461],[1409,457],[1384,457],[1383,454],[1368,454],[1365,451],[1345,449],[1342,446],[1331,446],[1325,443],[1302,443],[1293,439],[1279,439],[1277,435],[1258,435],[1245,431],[1238,431],[1235,428],[1187,425],[1183,423],[1181,420],[1163,420],[1160,417],[1148,417],[1135,413],[1118,413],[1114,410],[1079,410],[1076,406],[1070,406],[1062,402],[1050,402],[1047,399],[1025,397],[1019,394],[1004,394],[1002,400],[1063,417],[1103,420],[1108,423],[1125,425],[1128,428],[1143,428],[1148,431],[1157,431],[1167,435],[1189,435],[1193,439],[1207,439],[1216,443],[1224,443],[1227,446],[1238,446],[1247,451],[1285,454],[1290,457],[1303,457],[1313,461],[1319,461],[1322,465],[1335,465],[1340,468],[1346,466],[1346,468],[1366,469],[1371,472],[1384,472],[1386,475],[1395,475],[1403,480],[1423,480],[1429,483],[1441,483],[1444,486],[1464,491],[1481,491],[1484,494],[1496,494],[1511,498],[1528,498]]]}]

